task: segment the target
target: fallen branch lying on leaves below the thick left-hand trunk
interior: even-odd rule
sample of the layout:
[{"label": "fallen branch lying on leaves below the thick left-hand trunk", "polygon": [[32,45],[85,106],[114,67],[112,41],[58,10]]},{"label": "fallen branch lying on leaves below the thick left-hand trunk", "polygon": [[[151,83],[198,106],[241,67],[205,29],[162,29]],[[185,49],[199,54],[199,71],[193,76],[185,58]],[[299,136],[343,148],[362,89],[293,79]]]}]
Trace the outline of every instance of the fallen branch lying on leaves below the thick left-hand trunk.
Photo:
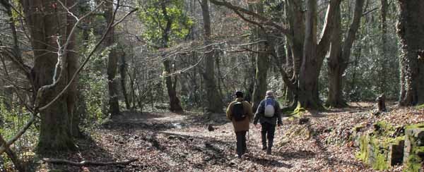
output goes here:
[{"label": "fallen branch lying on leaves below the thick left-hand trunk", "polygon": [[129,165],[134,161],[139,161],[139,159],[131,159],[128,161],[118,161],[118,162],[96,162],[96,161],[69,161],[66,159],[42,159],[42,161],[51,163],[51,164],[66,164],[71,166],[117,166],[117,165]]}]

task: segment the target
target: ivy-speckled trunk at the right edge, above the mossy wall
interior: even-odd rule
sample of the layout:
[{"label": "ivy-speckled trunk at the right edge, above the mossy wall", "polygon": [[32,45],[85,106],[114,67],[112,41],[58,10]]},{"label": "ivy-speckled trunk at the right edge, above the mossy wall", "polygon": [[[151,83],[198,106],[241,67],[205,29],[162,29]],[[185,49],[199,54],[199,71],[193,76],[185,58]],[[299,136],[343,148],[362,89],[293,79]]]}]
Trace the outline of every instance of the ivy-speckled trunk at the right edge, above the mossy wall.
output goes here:
[{"label": "ivy-speckled trunk at the right edge, above the mossy wall", "polygon": [[399,0],[401,106],[424,103],[424,1]]}]

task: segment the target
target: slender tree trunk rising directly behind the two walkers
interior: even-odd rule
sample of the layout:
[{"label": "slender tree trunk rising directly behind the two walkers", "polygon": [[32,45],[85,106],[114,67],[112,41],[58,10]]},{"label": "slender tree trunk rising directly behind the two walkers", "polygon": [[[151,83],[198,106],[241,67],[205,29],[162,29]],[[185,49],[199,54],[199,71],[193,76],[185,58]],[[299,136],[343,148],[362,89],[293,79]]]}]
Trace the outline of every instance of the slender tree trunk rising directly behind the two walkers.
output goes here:
[{"label": "slender tree trunk rising directly behind the two walkers", "polygon": [[[258,13],[264,13],[263,4],[257,4]],[[257,37],[266,40],[266,33],[264,30],[260,28],[256,28]],[[268,49],[268,45],[266,44],[258,44],[257,51],[266,52]],[[259,103],[265,97],[266,88],[268,83],[266,82],[266,73],[268,73],[269,68],[269,54],[266,53],[258,53],[256,55],[256,74],[254,78],[254,90],[252,94],[252,104],[253,111],[256,111]]]}]

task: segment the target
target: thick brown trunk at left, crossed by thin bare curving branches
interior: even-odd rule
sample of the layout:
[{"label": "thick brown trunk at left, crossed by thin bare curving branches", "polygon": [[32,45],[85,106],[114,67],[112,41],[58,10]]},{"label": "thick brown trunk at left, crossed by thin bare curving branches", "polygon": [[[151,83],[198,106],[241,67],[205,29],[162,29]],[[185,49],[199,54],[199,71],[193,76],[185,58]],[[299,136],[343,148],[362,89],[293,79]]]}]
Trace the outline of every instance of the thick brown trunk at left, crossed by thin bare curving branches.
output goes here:
[{"label": "thick brown trunk at left, crossed by thin bare curving branches", "polygon": [[[26,23],[30,27],[31,43],[34,53],[34,67],[32,75],[35,78],[35,90],[40,91],[40,105],[50,102],[57,94],[63,90],[67,82],[69,82],[69,73],[77,66],[76,56],[69,53],[73,47],[73,39],[71,39],[68,51],[64,51],[61,56],[62,68],[55,72],[57,64],[58,51],[57,39],[64,44],[63,39],[67,37],[69,32],[66,31],[66,25],[72,26],[74,20],[66,17],[66,11],[61,6],[53,6],[57,1],[41,1],[41,0],[21,0],[25,13]],[[73,1],[66,1],[67,6],[73,5]],[[40,13],[35,9],[43,9],[44,13]],[[64,27],[65,26],[65,27]],[[60,35],[60,37],[57,37]],[[60,74],[59,74],[60,72]],[[54,78],[54,76],[59,76]],[[55,85],[52,85],[57,80]],[[69,94],[64,94],[54,104],[44,111],[40,111],[40,140],[38,142],[38,150],[45,151],[63,151],[74,147],[71,137],[70,116],[73,109],[73,89],[71,87]]]}]

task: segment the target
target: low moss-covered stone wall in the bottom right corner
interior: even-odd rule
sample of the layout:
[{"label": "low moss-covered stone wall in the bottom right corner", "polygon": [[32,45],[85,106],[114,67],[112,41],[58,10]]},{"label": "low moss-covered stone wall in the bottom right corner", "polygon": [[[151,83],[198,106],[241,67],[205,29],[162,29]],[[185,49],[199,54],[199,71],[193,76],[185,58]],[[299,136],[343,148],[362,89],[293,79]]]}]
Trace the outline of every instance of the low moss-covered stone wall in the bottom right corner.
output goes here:
[{"label": "low moss-covered stone wall in the bottom right corner", "polygon": [[375,130],[353,129],[353,141],[360,149],[356,157],[376,170],[404,164],[404,171],[423,171],[424,124],[399,128],[384,123],[375,124]]}]

